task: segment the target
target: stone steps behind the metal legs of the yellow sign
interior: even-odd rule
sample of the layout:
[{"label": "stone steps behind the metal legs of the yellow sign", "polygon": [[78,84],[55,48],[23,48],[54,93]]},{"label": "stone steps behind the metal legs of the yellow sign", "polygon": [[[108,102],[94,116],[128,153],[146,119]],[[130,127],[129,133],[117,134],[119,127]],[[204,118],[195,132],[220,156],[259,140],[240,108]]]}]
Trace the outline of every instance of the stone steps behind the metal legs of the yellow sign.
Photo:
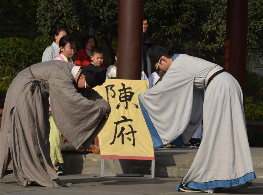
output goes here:
[{"label": "stone steps behind the metal legs of the yellow sign", "polygon": [[[263,148],[250,148],[256,176],[263,176]],[[155,177],[183,178],[195,158],[197,148],[155,150]],[[64,174],[101,173],[101,156],[93,153],[63,152]],[[150,175],[151,161],[105,159],[104,173]]]}]

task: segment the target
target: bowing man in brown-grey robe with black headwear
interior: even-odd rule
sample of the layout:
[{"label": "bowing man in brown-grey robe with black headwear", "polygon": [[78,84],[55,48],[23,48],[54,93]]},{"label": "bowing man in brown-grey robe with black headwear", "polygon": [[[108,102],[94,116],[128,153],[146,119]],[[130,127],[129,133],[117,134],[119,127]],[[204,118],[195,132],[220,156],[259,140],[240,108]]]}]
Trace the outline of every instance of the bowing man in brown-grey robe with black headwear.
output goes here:
[{"label": "bowing man in brown-grey robe with black headwear", "polygon": [[56,126],[76,149],[89,147],[110,113],[109,104],[91,89],[105,82],[106,69],[80,68],[47,61],[15,77],[6,94],[1,124],[1,178],[13,172],[23,186],[70,185],[58,179],[49,156],[48,97]]}]

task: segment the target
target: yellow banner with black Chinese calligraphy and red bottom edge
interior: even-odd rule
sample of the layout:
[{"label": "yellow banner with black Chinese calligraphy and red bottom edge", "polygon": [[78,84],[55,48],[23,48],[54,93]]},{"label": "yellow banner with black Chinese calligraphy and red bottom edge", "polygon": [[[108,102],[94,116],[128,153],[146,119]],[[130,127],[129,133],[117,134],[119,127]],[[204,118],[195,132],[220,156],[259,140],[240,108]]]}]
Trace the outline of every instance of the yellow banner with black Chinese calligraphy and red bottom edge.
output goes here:
[{"label": "yellow banner with black Chinese calligraphy and red bottom edge", "polygon": [[154,160],[153,141],[141,113],[138,96],[148,81],[106,79],[94,88],[111,107],[98,134],[101,159]]}]

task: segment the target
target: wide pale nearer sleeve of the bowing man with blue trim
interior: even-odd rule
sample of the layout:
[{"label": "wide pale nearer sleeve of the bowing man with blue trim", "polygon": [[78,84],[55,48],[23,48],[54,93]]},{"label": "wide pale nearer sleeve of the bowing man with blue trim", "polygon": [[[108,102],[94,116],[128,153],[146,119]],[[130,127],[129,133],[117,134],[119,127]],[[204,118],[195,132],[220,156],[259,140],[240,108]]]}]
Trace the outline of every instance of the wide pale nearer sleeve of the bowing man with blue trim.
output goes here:
[{"label": "wide pale nearer sleeve of the bowing man with blue trim", "polygon": [[[162,141],[157,147],[179,137],[188,126],[193,106],[193,83],[193,75],[172,64],[157,85],[139,95],[147,111],[149,121],[146,123],[153,124],[149,131],[154,131],[155,135],[157,132]],[[144,118],[147,120],[145,115]]]}]

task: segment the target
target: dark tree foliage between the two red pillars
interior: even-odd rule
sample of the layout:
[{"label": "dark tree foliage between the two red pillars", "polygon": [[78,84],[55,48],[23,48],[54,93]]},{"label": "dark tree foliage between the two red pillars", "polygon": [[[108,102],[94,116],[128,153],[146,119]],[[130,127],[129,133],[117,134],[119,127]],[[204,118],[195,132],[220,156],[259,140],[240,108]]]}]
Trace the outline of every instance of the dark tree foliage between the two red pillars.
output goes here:
[{"label": "dark tree foliage between the two red pillars", "polygon": [[224,56],[226,1],[146,1],[144,9],[158,45],[213,62]]}]

